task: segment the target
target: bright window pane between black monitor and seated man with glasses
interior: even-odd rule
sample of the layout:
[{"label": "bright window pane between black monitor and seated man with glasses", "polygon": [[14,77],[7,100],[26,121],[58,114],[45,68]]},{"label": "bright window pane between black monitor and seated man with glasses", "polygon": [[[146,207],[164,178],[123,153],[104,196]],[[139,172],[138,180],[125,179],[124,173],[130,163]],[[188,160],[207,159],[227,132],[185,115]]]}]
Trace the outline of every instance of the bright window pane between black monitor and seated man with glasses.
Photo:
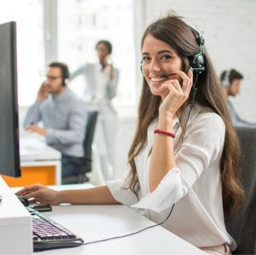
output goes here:
[{"label": "bright window pane between black monitor and seated man with glasses", "polygon": [[1,1],[0,23],[17,22],[18,100],[32,104],[44,76],[43,0]]}]

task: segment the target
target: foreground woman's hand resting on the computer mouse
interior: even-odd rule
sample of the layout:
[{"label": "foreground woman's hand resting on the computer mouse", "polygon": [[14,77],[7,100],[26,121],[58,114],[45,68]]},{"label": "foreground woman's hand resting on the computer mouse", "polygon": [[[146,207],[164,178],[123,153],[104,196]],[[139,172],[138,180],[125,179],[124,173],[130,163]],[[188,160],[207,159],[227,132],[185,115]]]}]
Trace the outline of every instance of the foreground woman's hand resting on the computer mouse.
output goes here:
[{"label": "foreground woman's hand resting on the computer mouse", "polygon": [[41,184],[36,184],[32,186],[27,186],[18,191],[16,195],[25,196],[25,198],[34,198],[29,200],[29,202],[40,202],[44,205],[59,205],[60,199],[58,198],[58,191],[53,191],[46,186]]}]

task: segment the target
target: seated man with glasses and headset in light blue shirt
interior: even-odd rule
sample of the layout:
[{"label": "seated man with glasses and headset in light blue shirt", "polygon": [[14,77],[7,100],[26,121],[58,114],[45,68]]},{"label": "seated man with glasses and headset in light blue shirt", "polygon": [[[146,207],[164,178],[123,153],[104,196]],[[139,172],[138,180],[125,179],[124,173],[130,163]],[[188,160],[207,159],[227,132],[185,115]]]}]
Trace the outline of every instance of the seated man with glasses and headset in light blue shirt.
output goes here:
[{"label": "seated man with glasses and headset in light blue shirt", "polygon": [[[67,88],[66,64],[49,64],[46,77],[36,102],[27,111],[23,126],[45,136],[46,143],[62,153],[63,178],[81,171],[86,106]],[[39,121],[43,127],[37,125]]]}]

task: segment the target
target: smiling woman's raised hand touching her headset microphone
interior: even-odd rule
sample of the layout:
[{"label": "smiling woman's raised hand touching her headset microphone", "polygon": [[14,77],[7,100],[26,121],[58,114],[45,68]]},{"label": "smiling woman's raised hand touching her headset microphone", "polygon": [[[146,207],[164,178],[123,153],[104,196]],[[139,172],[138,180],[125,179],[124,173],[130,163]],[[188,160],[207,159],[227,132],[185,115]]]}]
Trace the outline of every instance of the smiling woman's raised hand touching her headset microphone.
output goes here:
[{"label": "smiling woman's raised hand touching her headset microphone", "polygon": [[166,97],[159,107],[159,113],[170,113],[172,118],[175,116],[177,110],[180,109],[180,106],[189,98],[189,92],[193,85],[193,72],[191,69],[189,69],[188,75],[185,74],[184,71],[175,72],[182,78],[182,86],[180,82],[175,79],[166,81],[160,87],[161,90],[167,90],[167,92]]}]

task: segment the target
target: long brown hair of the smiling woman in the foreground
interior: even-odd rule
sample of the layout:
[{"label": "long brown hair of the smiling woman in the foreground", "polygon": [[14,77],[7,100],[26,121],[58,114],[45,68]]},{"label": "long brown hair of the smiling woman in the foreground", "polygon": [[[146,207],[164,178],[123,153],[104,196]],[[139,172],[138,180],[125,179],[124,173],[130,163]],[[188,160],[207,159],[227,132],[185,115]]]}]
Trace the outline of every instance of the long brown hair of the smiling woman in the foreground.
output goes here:
[{"label": "long brown hair of the smiling woman in the foreground", "polygon": [[[196,42],[196,38],[198,37],[196,31],[184,23],[182,17],[168,15],[166,18],[156,20],[156,22],[149,25],[144,32],[144,35],[142,36],[142,45],[147,34],[151,34],[156,39],[168,43],[175,48],[177,54],[182,58],[185,70],[190,67],[189,57],[200,52],[200,47]],[[207,106],[210,109],[213,109],[215,113],[222,117],[226,126],[224,149],[220,161],[220,171],[224,214],[229,217],[236,211],[236,209],[238,209],[244,198],[243,188],[239,181],[241,149],[236,132],[231,125],[231,118],[222,93],[220,79],[215,73],[206,48],[204,48],[204,59],[206,70],[198,76],[196,83],[196,87],[198,88],[196,102],[202,106]],[[189,97],[191,97],[191,95]],[[144,78],[140,96],[137,128],[133,143],[128,152],[130,173],[124,184],[124,188],[130,188],[135,195],[140,191],[140,183],[135,167],[135,157],[140,153],[144,144],[147,142],[147,128],[152,120],[159,116],[160,104],[161,97],[151,94],[149,85]],[[187,105],[188,103],[184,104],[179,110],[180,114],[178,114],[180,127],[182,128],[181,142],[184,139],[187,123],[187,116],[181,113]]]}]

